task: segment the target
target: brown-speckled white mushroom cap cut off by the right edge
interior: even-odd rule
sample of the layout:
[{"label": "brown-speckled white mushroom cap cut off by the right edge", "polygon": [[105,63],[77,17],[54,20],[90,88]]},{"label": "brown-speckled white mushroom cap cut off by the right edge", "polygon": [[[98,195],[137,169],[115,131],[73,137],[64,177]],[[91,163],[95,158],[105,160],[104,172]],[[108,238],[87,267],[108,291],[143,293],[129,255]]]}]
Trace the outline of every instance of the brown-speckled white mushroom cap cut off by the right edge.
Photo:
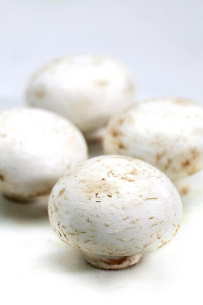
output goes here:
[{"label": "brown-speckled white mushroom cap cut off by the right edge", "polygon": [[183,98],[137,103],[110,120],[107,154],[122,154],[154,165],[172,180],[203,168],[203,107]]}]

